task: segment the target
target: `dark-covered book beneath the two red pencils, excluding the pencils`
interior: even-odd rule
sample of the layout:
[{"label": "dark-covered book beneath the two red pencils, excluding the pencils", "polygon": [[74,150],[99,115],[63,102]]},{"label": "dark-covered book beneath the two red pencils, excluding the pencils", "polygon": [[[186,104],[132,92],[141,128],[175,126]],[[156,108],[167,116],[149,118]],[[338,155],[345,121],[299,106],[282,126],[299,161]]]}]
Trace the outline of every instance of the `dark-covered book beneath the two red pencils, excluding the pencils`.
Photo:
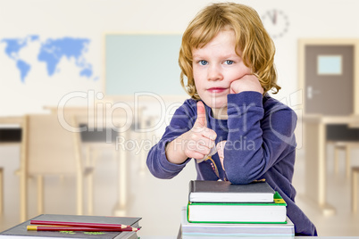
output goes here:
[{"label": "dark-covered book beneath the two red pencils, excluding the pencils", "polygon": [[15,227],[0,233],[0,238],[26,239],[26,238],[98,238],[98,239],[137,239],[136,232],[82,232],[82,231],[28,231],[27,226],[31,225],[31,220],[42,221],[66,221],[66,222],[85,222],[101,224],[121,224],[131,227],[138,227],[141,218],[125,217],[104,217],[104,216],[77,216],[77,215],[57,215],[41,214],[31,218]]}]

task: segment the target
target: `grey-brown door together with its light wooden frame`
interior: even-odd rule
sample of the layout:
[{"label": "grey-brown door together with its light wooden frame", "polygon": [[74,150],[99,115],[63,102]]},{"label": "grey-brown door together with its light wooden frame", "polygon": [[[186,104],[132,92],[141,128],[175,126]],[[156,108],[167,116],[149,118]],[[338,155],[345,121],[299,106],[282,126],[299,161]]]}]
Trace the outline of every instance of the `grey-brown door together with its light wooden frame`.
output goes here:
[{"label": "grey-brown door together with its light wooden frame", "polygon": [[299,89],[305,115],[359,115],[359,38],[298,41]]}]

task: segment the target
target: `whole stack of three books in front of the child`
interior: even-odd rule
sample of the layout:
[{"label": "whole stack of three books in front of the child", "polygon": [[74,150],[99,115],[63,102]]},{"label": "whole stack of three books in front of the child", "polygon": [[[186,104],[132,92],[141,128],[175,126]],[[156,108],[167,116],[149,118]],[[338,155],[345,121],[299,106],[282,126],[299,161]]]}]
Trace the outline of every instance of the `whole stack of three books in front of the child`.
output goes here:
[{"label": "whole stack of three books in front of the child", "polygon": [[188,206],[182,210],[181,237],[293,238],[287,203],[266,182],[232,185],[190,181]]}]

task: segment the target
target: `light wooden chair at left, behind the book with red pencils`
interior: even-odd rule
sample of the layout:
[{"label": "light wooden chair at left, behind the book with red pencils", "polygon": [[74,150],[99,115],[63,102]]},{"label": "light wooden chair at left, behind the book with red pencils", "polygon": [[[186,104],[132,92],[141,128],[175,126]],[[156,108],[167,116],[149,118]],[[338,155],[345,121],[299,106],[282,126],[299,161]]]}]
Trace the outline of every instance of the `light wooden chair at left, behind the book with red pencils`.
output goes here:
[{"label": "light wooden chair at left, behind the book with red pencils", "polygon": [[[74,117],[68,119],[76,126]],[[28,179],[38,180],[38,214],[44,210],[44,176],[73,175],[77,186],[77,214],[83,214],[83,185],[88,177],[88,197],[92,195],[93,167],[84,165],[79,132],[63,128],[56,114],[32,114],[24,116],[21,141],[20,175],[21,221],[28,219]],[[92,203],[92,200],[89,200]],[[90,205],[89,207],[92,207]]]}]

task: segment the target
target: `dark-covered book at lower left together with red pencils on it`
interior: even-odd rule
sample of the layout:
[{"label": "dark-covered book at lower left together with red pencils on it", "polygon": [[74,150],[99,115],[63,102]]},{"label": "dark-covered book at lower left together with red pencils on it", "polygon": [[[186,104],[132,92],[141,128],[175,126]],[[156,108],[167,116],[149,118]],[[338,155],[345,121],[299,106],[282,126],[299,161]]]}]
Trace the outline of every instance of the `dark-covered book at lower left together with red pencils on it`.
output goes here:
[{"label": "dark-covered book at lower left together with red pencils on it", "polygon": [[0,238],[138,239],[141,218],[41,214],[0,233]]}]

